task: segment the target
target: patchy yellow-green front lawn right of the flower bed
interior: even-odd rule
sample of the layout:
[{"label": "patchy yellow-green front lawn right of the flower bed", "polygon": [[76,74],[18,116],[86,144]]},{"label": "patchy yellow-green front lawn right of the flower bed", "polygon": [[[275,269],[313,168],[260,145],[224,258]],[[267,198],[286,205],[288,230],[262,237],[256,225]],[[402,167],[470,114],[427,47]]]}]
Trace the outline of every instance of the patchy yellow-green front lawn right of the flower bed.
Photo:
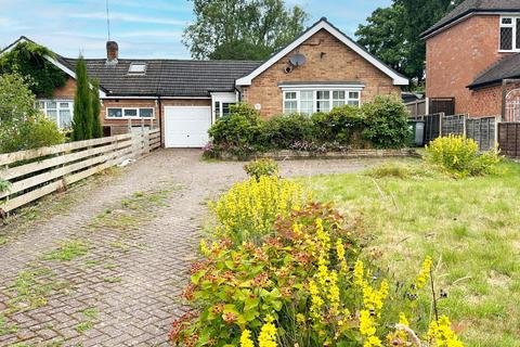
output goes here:
[{"label": "patchy yellow-green front lawn right of the flower bed", "polygon": [[398,277],[430,255],[440,310],[467,346],[520,346],[520,165],[500,175],[452,179],[422,162],[400,160],[417,176],[366,174],[301,179],[314,197],[334,202],[373,235],[370,250]]}]

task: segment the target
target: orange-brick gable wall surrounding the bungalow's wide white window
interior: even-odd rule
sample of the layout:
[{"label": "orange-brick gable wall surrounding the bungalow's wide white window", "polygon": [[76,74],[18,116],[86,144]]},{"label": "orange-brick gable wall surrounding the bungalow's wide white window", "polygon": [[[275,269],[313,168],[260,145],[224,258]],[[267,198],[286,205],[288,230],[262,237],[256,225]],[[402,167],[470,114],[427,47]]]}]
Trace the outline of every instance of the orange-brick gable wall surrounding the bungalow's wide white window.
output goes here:
[{"label": "orange-brick gable wall surrounding the bungalow's wide white window", "polygon": [[[296,52],[304,54],[307,63],[285,74],[288,59]],[[283,92],[278,87],[282,81],[362,81],[365,85],[362,102],[377,94],[401,93],[401,88],[393,86],[390,77],[326,30],[316,33],[255,78],[251,86],[244,88],[243,100],[250,105],[261,104],[264,116],[282,114]]]}]

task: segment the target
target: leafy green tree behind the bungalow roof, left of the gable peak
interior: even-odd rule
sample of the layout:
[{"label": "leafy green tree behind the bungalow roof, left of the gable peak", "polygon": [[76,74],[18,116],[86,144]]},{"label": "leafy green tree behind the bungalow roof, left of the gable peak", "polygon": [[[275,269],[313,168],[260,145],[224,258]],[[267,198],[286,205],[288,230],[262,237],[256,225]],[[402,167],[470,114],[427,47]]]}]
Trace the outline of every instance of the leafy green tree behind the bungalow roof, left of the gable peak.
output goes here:
[{"label": "leafy green tree behind the bungalow roof, left of the gable peak", "polygon": [[184,30],[194,59],[265,60],[290,43],[308,14],[284,0],[191,0],[195,23]]}]

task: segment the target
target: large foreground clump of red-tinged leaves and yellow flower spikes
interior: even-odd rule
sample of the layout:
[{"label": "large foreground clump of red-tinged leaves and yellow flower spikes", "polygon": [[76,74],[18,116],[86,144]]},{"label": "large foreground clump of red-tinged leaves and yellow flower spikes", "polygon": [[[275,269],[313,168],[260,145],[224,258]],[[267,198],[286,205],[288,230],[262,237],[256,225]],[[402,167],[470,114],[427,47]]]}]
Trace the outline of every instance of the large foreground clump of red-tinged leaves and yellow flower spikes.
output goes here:
[{"label": "large foreground clump of red-tinged leaves and yellow flower spikes", "polygon": [[[192,266],[183,292],[198,311],[173,323],[173,345],[252,346],[266,330],[269,346],[366,347],[385,339],[389,346],[412,345],[416,334],[402,329],[428,319],[426,312],[414,317],[413,307],[428,287],[431,259],[389,295],[389,282],[360,259],[355,236],[330,206],[306,205],[280,218],[274,231],[256,244],[200,243],[204,259]],[[400,306],[408,316],[399,314],[399,329],[392,297],[412,303]],[[463,346],[445,317],[431,322],[428,333],[430,346]]]}]

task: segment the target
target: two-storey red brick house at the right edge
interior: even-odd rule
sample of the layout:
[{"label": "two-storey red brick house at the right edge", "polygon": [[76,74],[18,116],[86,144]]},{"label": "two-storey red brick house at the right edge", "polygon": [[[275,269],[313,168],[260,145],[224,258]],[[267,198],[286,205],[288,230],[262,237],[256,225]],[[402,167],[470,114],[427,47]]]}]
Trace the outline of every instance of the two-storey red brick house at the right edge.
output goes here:
[{"label": "two-storey red brick house at the right edge", "polygon": [[520,0],[466,0],[422,37],[427,98],[520,120]]}]

